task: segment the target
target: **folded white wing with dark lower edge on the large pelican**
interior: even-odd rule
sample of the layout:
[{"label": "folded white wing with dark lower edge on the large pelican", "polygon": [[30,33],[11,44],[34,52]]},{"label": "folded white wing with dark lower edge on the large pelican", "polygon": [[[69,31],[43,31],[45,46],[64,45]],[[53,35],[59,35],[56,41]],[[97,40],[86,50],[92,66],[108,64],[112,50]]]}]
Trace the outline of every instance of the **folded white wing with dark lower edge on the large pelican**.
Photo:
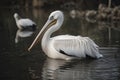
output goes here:
[{"label": "folded white wing with dark lower edge on the large pelican", "polygon": [[88,37],[64,35],[55,37],[54,47],[60,53],[76,57],[99,57],[98,46]]}]

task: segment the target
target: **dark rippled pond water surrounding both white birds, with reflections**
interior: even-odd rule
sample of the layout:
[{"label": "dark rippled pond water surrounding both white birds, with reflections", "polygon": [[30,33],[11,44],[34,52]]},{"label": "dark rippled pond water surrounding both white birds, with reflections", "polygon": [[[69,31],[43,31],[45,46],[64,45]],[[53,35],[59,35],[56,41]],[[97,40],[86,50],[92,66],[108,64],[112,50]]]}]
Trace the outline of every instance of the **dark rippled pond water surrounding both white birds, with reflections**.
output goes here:
[{"label": "dark rippled pond water surrounding both white birds, with reflections", "polygon": [[[13,14],[29,17],[38,25],[35,32],[17,29]],[[119,80],[120,79],[120,23],[88,22],[69,11],[63,11],[65,21],[60,34],[82,35],[100,46],[101,59],[53,60],[47,58],[40,44],[27,51],[52,10],[0,8],[0,80]],[[32,34],[33,33],[33,34]],[[22,35],[31,35],[24,37]],[[17,35],[17,42],[15,41]]]}]

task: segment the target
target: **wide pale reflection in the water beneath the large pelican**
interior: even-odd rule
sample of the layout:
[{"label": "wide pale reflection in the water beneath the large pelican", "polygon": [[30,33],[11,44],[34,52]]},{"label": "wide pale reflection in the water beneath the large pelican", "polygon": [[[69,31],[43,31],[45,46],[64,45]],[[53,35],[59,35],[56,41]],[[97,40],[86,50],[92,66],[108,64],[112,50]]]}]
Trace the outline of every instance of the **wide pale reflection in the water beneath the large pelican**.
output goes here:
[{"label": "wide pale reflection in the water beneath the large pelican", "polygon": [[92,61],[92,59],[81,62],[80,60],[65,61],[47,58],[43,65],[42,78],[43,80],[76,80],[87,76],[91,80],[89,75],[91,68],[86,69],[86,63],[89,64]]}]

